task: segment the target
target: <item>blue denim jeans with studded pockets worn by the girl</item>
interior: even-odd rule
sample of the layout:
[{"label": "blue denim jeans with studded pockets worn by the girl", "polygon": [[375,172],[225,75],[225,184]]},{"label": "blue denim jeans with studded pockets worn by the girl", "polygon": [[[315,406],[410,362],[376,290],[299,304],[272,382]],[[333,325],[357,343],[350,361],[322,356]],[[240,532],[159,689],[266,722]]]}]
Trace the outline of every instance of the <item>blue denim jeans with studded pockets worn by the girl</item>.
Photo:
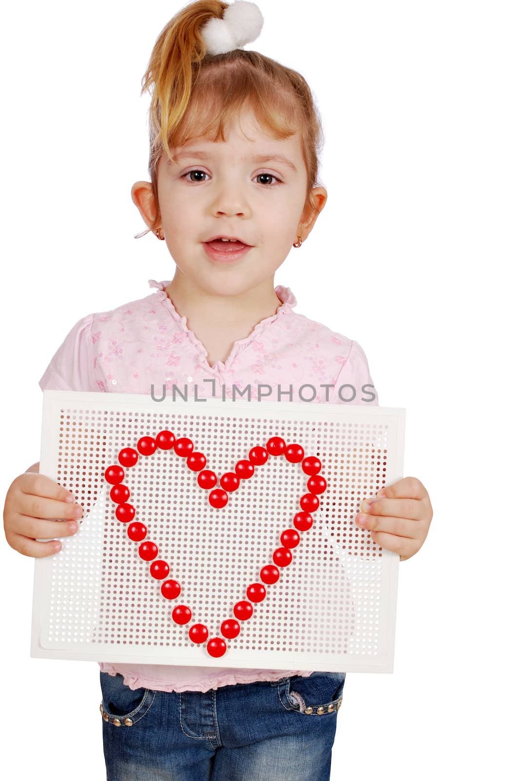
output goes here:
[{"label": "blue denim jeans with studded pockets worn by the girl", "polygon": [[327,781],[344,679],[178,693],[100,672],[107,781]]}]

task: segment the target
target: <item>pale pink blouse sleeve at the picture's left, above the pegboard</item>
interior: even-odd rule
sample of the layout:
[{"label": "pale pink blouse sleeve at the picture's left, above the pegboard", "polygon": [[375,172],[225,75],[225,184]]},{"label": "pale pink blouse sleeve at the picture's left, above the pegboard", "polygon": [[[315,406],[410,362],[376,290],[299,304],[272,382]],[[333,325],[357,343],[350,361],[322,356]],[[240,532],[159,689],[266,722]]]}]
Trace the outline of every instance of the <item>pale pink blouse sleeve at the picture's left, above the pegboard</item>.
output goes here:
[{"label": "pale pink blouse sleeve at the picture's left, above the pegboard", "polygon": [[92,324],[87,315],[71,328],[38,384],[42,391],[99,391],[94,379]]}]

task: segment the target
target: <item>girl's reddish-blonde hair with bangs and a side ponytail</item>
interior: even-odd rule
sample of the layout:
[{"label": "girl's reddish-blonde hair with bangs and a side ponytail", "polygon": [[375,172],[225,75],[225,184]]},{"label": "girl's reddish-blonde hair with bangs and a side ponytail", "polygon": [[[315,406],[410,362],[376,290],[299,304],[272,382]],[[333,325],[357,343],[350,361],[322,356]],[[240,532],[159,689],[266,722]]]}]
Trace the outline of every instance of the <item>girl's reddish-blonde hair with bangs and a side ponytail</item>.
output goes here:
[{"label": "girl's reddish-blonde hair with bangs and a side ponytail", "polygon": [[259,52],[234,49],[220,55],[206,53],[201,25],[213,16],[222,19],[227,3],[196,0],[186,5],[159,34],[141,81],[140,95],[154,85],[149,109],[151,177],[155,218],[161,225],[158,203],[158,161],[171,148],[197,136],[225,141],[224,128],[243,106],[254,112],[272,137],[285,139],[298,132],[307,169],[305,214],[317,213],[312,188],[318,183],[318,155],[324,135],[310,87],[297,71]]}]

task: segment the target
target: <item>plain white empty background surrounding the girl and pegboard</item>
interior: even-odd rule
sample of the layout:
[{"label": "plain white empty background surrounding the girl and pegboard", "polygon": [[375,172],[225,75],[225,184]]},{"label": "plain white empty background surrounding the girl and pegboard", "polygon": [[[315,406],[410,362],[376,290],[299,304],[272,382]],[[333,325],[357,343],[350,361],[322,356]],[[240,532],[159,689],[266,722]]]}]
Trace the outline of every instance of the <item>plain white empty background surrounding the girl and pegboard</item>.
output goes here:
[{"label": "plain white empty background surrounding the girl and pegboard", "polygon": [[[170,279],[130,198],[140,80],[176,2],[2,12],[2,496],[39,460],[41,390],[80,317]],[[303,73],[328,203],[276,284],[357,340],[407,409],[428,540],[399,565],[392,675],[346,679],[332,779],[512,779],[520,701],[520,4],[280,2],[247,48]],[[2,545],[3,761],[102,779],[98,665],[30,658],[34,561]],[[518,727],[518,729],[517,729]],[[252,779],[255,781],[255,779]]]}]

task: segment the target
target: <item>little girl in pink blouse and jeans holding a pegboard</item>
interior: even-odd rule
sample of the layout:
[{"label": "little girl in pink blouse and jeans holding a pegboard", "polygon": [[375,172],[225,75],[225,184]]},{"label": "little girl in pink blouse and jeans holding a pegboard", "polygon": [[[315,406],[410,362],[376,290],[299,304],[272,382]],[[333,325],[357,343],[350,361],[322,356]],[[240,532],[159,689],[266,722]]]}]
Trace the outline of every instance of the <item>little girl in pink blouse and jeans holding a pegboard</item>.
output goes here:
[{"label": "little girl in pink blouse and jeans holding a pegboard", "polygon": [[[176,272],[149,280],[157,289],[145,298],[80,319],[42,390],[158,396],[165,386],[169,396],[187,385],[219,399],[250,384],[254,401],[377,405],[360,345],[293,312],[289,288],[274,288],[326,191],[306,81],[241,48],[262,23],[254,3],[200,0],[159,35],[142,90],[154,84],[151,182],[134,184],[132,198]],[[12,482],[4,518],[9,545],[40,557],[61,546],[35,538],[77,530],[51,519],[78,519],[82,508],[37,472]],[[412,477],[379,493],[357,522],[376,549],[410,558],[428,533],[428,494]],[[110,781],[329,777],[344,673],[99,664]]]}]

